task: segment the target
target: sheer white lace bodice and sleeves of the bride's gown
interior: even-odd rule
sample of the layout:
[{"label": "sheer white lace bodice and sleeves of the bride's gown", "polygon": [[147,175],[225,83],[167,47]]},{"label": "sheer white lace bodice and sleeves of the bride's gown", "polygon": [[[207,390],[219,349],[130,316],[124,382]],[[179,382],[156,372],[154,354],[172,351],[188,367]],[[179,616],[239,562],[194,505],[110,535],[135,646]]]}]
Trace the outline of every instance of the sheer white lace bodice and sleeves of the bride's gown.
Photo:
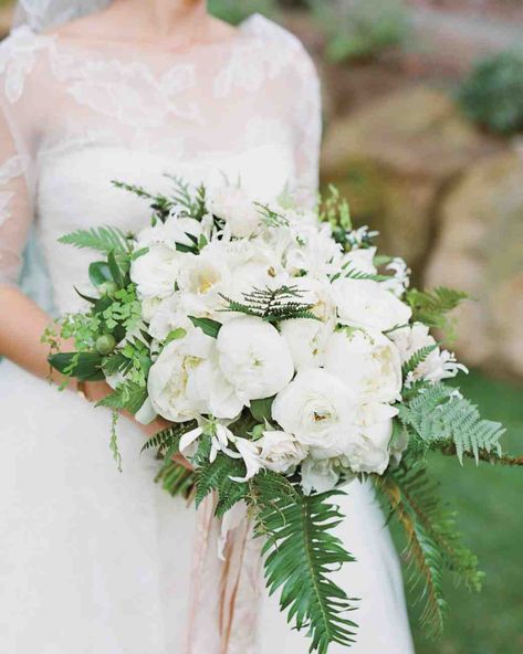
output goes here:
[{"label": "sheer white lace bodice and sleeves of the bride's gown", "polygon": [[59,309],[87,254],[57,238],[143,224],[117,178],[168,189],[164,173],[224,180],[269,200],[317,188],[320,92],[300,42],[253,15],[227,41],[182,53],[19,28],[0,46],[0,281],[15,283],[35,219]]}]

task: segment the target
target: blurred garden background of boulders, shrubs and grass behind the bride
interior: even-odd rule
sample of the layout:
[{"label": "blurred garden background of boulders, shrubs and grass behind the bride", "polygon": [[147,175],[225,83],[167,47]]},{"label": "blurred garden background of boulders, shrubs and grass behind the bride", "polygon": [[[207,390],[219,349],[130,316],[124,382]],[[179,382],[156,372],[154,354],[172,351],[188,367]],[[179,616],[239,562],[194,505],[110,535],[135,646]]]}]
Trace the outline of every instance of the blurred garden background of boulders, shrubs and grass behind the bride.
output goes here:
[{"label": "blurred garden background of boulders, shrubs and grass behind the bride", "polygon": [[[0,0],[2,3],[2,0]],[[381,232],[419,286],[474,298],[451,347],[463,390],[523,454],[523,1],[211,0],[231,22],[254,11],[295,32],[324,92],[322,181]],[[0,25],[7,33],[10,2]],[[418,654],[523,652],[523,475],[438,461],[442,493],[487,577],[453,589],[444,635]],[[349,590],[349,589],[348,589]],[[380,654],[380,653],[376,653]]]}]

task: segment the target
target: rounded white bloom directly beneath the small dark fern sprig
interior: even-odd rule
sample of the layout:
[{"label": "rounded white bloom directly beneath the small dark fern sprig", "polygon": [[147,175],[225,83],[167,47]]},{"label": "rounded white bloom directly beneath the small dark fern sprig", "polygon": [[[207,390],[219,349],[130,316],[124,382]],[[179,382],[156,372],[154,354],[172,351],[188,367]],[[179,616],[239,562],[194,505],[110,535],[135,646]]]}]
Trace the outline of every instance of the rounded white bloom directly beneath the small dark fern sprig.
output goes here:
[{"label": "rounded white bloom directly beneath the small dark fern sprig", "polygon": [[261,318],[233,318],[220,329],[217,344],[220,368],[244,403],[276,394],[294,375],[285,339]]}]

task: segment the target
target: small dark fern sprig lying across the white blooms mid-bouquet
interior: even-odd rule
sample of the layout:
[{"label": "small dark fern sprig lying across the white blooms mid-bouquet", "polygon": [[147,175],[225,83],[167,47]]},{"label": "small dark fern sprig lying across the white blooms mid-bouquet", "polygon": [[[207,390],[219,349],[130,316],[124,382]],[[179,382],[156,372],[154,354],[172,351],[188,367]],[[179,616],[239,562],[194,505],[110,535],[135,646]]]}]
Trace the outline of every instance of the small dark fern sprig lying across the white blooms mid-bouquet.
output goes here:
[{"label": "small dark fern sprig lying across the white blooms mid-bouquet", "polygon": [[254,288],[242,295],[243,302],[236,302],[221,295],[228,303],[223,310],[255,316],[273,324],[295,318],[317,320],[312,313],[314,305],[300,302],[303,294],[297,286],[281,286],[275,289]]}]

